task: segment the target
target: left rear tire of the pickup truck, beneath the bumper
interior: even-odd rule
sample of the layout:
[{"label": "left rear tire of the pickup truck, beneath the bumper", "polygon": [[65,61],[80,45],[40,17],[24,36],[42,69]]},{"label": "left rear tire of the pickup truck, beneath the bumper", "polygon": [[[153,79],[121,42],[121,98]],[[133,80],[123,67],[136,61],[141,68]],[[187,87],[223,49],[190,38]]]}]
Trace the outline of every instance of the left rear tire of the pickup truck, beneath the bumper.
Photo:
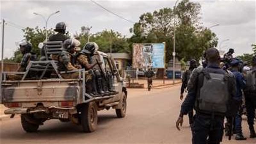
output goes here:
[{"label": "left rear tire of the pickup truck, beneath the bumper", "polygon": [[29,122],[29,119],[32,119],[32,115],[21,114],[20,118],[23,130],[26,132],[36,132],[38,130],[39,124],[33,124]]}]

